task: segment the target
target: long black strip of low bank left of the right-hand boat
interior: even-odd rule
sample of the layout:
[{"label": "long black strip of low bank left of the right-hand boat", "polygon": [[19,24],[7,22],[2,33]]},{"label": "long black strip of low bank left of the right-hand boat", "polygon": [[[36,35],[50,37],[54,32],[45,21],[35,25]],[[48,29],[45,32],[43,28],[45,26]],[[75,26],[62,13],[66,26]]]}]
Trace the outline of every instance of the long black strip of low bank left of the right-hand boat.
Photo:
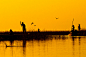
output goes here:
[{"label": "long black strip of low bank left of the right-hand boat", "polygon": [[4,32],[0,33],[0,40],[31,40],[31,39],[47,39],[47,35],[68,35],[69,31],[47,31],[47,32]]}]

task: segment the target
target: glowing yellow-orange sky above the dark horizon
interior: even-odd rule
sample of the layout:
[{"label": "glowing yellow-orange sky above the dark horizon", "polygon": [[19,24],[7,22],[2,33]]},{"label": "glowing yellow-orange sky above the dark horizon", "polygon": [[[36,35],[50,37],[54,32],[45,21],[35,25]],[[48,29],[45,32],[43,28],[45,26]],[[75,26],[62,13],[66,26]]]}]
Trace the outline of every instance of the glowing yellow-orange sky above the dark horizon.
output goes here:
[{"label": "glowing yellow-orange sky above the dark horizon", "polygon": [[27,31],[70,30],[73,18],[86,28],[85,0],[0,0],[0,31],[21,31],[20,21]]}]

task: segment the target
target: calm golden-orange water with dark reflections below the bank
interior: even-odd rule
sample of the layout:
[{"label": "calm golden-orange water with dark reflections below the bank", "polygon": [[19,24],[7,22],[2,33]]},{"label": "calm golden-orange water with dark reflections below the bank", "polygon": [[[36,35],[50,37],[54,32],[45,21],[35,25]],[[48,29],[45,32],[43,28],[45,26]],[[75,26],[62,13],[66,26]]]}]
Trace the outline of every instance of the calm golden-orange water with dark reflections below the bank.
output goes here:
[{"label": "calm golden-orange water with dark reflections below the bank", "polygon": [[[86,37],[50,35],[45,40],[0,41],[0,57],[85,57]],[[9,47],[6,47],[9,46]],[[10,47],[11,46],[11,47]]]}]

